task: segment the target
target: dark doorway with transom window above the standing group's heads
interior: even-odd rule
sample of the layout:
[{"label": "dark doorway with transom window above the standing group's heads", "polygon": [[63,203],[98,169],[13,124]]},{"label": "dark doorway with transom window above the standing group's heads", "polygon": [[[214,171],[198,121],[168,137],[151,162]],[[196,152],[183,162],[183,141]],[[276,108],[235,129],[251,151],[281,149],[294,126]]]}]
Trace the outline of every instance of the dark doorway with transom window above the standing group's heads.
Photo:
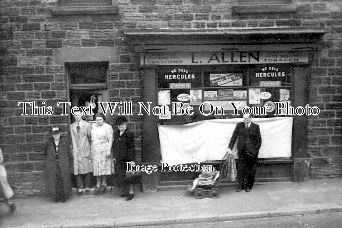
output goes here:
[{"label": "dark doorway with transom window above the standing group's heads", "polygon": [[[92,113],[101,112],[97,102],[109,101],[108,62],[66,63],[66,70],[71,106],[89,106]],[[90,112],[87,114],[83,119],[94,121],[94,116]],[[108,122],[110,116],[106,117]]]}]

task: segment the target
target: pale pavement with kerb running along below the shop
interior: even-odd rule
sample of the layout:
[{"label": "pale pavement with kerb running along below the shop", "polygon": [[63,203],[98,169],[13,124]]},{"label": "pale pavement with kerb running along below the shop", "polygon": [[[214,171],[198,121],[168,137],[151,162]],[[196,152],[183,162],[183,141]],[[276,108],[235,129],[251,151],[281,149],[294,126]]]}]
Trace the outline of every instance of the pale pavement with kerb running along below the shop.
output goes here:
[{"label": "pale pavement with kerb running along below the shop", "polygon": [[255,183],[249,193],[237,193],[235,188],[220,186],[216,199],[197,199],[188,190],[135,192],[130,201],[109,191],[71,196],[65,203],[54,203],[50,197],[16,199],[12,215],[1,204],[0,227],[128,227],[342,211],[342,178]]}]

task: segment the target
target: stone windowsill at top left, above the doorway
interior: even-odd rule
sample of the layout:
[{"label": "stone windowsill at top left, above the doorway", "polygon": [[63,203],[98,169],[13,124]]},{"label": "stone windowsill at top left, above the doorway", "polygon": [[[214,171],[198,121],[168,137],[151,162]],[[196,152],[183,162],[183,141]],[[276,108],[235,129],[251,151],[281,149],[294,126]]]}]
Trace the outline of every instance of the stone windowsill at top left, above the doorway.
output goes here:
[{"label": "stone windowsill at top left, above the doorway", "polygon": [[58,6],[53,7],[52,15],[118,14],[118,6]]}]

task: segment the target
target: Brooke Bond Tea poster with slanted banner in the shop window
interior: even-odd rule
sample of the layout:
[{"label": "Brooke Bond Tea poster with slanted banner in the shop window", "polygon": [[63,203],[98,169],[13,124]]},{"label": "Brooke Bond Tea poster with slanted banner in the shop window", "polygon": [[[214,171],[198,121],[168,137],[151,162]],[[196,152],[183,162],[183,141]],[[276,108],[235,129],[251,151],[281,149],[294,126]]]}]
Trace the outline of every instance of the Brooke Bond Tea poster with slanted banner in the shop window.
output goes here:
[{"label": "Brooke Bond Tea poster with slanted banner in the shop window", "polygon": [[210,86],[242,86],[242,74],[210,74]]}]

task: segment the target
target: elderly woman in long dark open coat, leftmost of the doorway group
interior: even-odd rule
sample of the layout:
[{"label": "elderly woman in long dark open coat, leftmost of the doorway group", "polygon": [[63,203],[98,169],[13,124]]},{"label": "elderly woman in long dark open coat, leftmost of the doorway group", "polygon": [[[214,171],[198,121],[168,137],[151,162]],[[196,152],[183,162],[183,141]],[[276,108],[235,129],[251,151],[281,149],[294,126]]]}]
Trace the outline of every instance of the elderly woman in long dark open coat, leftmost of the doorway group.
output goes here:
[{"label": "elderly woman in long dark open coat, leftmost of the doorway group", "polygon": [[58,127],[51,130],[52,137],[45,145],[45,185],[48,195],[54,196],[54,202],[65,202],[70,190],[70,162],[71,154],[68,141],[61,138]]}]

